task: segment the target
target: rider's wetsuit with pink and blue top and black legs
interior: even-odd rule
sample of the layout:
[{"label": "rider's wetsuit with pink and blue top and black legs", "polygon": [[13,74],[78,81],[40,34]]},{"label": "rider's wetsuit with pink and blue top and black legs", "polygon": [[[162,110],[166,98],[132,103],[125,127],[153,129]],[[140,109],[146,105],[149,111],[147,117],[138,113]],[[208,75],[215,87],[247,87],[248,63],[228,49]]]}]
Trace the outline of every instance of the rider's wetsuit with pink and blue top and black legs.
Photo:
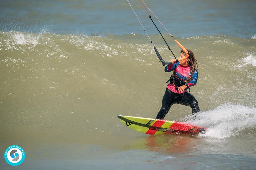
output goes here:
[{"label": "rider's wetsuit with pink and blue top and black legs", "polygon": [[[190,77],[190,67],[189,66],[182,67],[179,65],[179,62],[176,63],[176,66],[177,66],[176,67],[177,78],[184,80],[184,81],[187,80]],[[164,71],[170,72],[170,71],[173,71],[174,69],[175,69],[175,64],[168,64],[164,68]],[[198,76],[198,73],[197,73],[197,70],[195,70],[192,75],[191,81],[189,81],[186,84],[187,87],[196,85],[197,76]],[[179,92],[175,88],[174,84],[172,82],[170,82],[170,84],[168,84],[168,86],[165,90],[165,94],[164,94],[164,97],[162,100],[162,107],[161,107],[160,111],[158,112],[156,119],[164,119],[164,117],[166,116],[166,114],[168,113],[168,111],[170,110],[171,106],[174,103],[182,104],[185,106],[190,106],[192,109],[192,115],[194,115],[200,111],[198,102],[193,95],[188,93],[187,90],[184,90],[184,92]]]}]

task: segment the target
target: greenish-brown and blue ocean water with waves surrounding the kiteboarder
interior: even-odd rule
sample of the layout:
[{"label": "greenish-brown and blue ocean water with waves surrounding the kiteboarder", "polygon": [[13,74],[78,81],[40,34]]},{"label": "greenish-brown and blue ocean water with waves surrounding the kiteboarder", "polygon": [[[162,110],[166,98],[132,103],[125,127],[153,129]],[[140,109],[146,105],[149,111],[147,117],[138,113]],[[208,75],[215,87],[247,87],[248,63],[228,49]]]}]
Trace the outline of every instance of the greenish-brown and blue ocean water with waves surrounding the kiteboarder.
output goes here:
[{"label": "greenish-brown and blue ocean water with waves surrounding the kiteboarder", "polygon": [[[171,60],[140,4],[130,2]],[[149,136],[118,120],[155,118],[170,77],[127,1],[3,1],[1,169],[13,169],[4,150],[14,144],[26,152],[19,169],[254,169],[255,3],[144,2],[199,62],[190,92],[198,119],[178,104],[165,119],[208,131]]]}]

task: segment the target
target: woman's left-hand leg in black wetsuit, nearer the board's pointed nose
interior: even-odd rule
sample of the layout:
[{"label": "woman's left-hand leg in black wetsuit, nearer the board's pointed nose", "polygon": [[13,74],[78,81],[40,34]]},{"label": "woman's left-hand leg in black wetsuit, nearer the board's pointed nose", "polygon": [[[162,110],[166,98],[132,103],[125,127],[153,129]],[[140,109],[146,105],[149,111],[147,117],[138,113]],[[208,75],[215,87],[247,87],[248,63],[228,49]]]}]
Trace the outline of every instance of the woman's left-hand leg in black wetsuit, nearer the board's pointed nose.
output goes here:
[{"label": "woman's left-hand leg in black wetsuit, nearer the board's pointed nose", "polygon": [[165,90],[165,94],[162,100],[162,107],[158,112],[156,119],[164,119],[168,111],[170,110],[172,104],[174,103],[175,99],[179,96],[179,94],[175,95],[172,93],[168,88]]}]

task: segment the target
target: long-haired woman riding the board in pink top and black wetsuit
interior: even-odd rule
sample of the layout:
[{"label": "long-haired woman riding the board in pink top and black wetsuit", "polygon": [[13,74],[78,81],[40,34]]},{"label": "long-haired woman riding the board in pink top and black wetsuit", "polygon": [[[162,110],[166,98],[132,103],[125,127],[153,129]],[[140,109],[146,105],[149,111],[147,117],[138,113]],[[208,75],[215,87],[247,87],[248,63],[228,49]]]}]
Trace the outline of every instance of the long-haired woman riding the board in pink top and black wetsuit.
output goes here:
[{"label": "long-haired woman riding the board in pink top and black wetsuit", "polygon": [[[175,63],[175,59],[172,59],[172,64],[168,64],[164,68],[165,72],[173,71],[173,74],[169,80],[170,84],[168,84],[165,90],[162,107],[158,112],[156,119],[164,119],[174,103],[190,106],[192,115],[200,111],[196,98],[187,91],[191,86],[196,85],[198,76],[197,60],[191,50],[188,50],[188,55],[187,59],[177,63]],[[180,58],[185,56],[185,52],[181,50]]]}]

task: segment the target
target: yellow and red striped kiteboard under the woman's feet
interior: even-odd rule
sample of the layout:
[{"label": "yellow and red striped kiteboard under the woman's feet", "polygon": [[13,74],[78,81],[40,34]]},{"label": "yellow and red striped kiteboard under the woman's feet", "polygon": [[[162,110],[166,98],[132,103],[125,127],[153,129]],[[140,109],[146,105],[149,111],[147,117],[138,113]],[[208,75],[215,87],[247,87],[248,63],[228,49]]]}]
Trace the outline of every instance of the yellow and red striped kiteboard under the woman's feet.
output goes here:
[{"label": "yellow and red striped kiteboard under the woman's feet", "polygon": [[126,126],[149,135],[175,133],[175,134],[198,134],[204,133],[207,128],[195,126],[188,123],[174,122],[161,119],[150,119],[144,117],[117,116]]}]

